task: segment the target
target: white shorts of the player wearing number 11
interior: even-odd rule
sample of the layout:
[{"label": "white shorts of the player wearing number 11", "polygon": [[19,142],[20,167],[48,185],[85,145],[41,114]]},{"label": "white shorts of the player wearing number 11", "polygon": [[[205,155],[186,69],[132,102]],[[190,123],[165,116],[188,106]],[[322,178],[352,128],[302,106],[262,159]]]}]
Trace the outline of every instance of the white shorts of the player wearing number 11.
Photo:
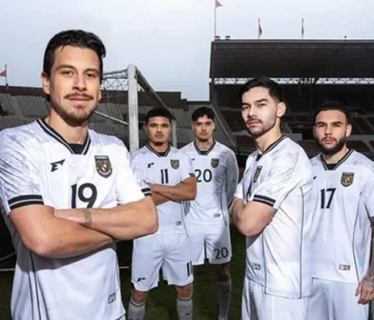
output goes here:
[{"label": "white shorts of the player wearing number 11", "polygon": [[131,282],[137,291],[156,288],[162,267],[169,285],[193,282],[190,244],[186,234],[151,234],[134,240]]}]

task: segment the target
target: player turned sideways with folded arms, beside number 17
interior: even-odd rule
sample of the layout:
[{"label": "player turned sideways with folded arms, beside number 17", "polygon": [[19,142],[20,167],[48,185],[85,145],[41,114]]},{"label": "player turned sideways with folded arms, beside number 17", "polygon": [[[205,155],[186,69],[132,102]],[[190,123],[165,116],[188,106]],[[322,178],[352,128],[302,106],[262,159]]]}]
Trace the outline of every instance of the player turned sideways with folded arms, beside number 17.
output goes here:
[{"label": "player turned sideways with folded arms, beside number 17", "polygon": [[286,105],[276,82],[253,79],[240,94],[257,149],[230,206],[233,222],[247,236],[242,320],[305,320],[312,284],[311,162],[281,134]]}]

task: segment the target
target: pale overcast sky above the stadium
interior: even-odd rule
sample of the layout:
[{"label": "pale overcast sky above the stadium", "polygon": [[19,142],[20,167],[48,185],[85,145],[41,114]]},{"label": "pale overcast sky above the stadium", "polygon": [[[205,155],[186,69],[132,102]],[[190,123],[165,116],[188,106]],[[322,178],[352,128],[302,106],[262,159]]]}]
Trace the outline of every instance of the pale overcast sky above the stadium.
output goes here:
[{"label": "pale overcast sky above the stadium", "polygon": [[[374,38],[373,0],[220,0],[217,33],[232,39]],[[40,87],[48,40],[62,29],[97,33],[104,69],[138,66],[156,90],[208,99],[215,0],[0,0],[0,72],[11,86]],[[0,78],[0,84],[3,84]]]}]

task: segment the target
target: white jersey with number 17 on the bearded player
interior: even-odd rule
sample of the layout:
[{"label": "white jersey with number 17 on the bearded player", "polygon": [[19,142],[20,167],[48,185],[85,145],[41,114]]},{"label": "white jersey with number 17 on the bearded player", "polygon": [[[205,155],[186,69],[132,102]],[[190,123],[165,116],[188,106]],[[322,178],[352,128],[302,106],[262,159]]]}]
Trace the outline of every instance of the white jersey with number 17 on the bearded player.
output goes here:
[{"label": "white jersey with number 17 on the bearded player", "polygon": [[313,168],[313,277],[358,283],[369,268],[374,162],[350,150],[336,165]]}]

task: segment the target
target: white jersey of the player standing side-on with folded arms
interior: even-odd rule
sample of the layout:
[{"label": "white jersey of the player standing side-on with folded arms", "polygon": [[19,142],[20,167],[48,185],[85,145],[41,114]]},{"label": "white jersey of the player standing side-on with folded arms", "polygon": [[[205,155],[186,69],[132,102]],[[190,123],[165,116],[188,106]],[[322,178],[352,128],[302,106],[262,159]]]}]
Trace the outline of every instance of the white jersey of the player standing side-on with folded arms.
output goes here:
[{"label": "white jersey of the player standing side-on with folded arms", "polygon": [[247,237],[246,276],[265,293],[289,298],[311,293],[312,180],[308,156],[284,136],[247,159],[235,196],[277,209],[259,235]]}]

